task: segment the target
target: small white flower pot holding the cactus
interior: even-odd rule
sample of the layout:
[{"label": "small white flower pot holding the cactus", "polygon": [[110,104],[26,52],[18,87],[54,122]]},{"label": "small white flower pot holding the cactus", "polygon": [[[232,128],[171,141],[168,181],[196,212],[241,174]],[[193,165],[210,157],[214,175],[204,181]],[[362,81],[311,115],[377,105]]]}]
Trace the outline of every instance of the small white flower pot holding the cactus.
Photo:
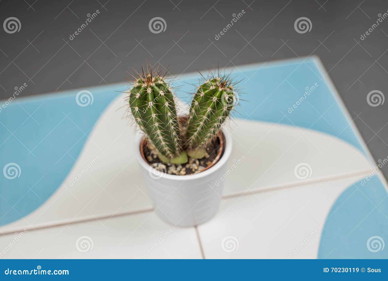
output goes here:
[{"label": "small white flower pot holding the cactus", "polygon": [[[152,168],[137,154],[155,212],[166,222],[177,226],[193,226],[206,222],[218,210],[224,186],[223,175],[232,152],[232,137],[223,129],[225,148],[220,160],[209,169],[194,175],[169,175]],[[136,141],[140,149],[142,138]]]}]

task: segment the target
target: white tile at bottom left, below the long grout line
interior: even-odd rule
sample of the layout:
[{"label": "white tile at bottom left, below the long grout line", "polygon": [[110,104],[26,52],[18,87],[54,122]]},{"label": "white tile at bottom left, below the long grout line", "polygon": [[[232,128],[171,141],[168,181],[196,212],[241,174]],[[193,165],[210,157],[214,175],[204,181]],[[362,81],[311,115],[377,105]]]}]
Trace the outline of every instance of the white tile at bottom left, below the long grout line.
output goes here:
[{"label": "white tile at bottom left, below the long grout line", "polygon": [[0,237],[0,258],[202,258],[193,227],[173,227],[153,212],[18,235]]}]

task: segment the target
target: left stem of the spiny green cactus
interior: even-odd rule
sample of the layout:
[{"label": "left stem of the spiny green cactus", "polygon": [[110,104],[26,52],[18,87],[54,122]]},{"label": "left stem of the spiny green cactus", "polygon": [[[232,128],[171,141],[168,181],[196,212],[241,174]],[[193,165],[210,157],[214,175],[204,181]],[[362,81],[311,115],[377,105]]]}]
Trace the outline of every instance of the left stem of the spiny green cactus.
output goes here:
[{"label": "left stem of the spiny green cactus", "polygon": [[158,149],[159,159],[166,163],[184,164],[188,161],[182,149],[180,123],[171,87],[158,70],[138,73],[128,101],[135,122],[148,140]]}]

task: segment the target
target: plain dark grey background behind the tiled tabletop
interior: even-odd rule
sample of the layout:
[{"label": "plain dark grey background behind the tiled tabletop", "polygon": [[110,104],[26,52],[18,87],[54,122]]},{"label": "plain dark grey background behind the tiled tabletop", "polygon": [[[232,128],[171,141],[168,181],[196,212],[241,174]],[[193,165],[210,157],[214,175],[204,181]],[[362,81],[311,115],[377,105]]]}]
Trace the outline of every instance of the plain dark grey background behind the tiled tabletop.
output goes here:
[{"label": "plain dark grey background behind the tiled tabletop", "polygon": [[[244,16],[215,40],[241,10]],[[317,55],[377,161],[388,155],[388,101],[372,107],[366,96],[385,94],[388,85],[388,18],[360,36],[387,10],[386,0],[2,0],[1,23],[17,17],[21,30],[0,30],[0,98],[25,82],[19,96],[121,82],[146,60],[179,75],[217,61],[223,67]],[[165,19],[165,32],[151,33],[153,17]],[[294,30],[299,17],[311,20],[310,32]],[[383,171],[387,177],[388,167]]]}]

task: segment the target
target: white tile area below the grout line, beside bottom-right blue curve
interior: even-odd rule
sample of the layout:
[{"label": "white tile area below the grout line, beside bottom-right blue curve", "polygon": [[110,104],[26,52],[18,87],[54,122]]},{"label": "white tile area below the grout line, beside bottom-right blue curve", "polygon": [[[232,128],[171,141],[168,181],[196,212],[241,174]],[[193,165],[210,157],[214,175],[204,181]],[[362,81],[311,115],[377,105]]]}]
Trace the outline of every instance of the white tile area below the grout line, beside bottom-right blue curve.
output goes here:
[{"label": "white tile area below the grout line, beside bottom-right blue curve", "polygon": [[217,216],[198,226],[205,258],[317,258],[331,206],[360,178],[223,200]]}]

